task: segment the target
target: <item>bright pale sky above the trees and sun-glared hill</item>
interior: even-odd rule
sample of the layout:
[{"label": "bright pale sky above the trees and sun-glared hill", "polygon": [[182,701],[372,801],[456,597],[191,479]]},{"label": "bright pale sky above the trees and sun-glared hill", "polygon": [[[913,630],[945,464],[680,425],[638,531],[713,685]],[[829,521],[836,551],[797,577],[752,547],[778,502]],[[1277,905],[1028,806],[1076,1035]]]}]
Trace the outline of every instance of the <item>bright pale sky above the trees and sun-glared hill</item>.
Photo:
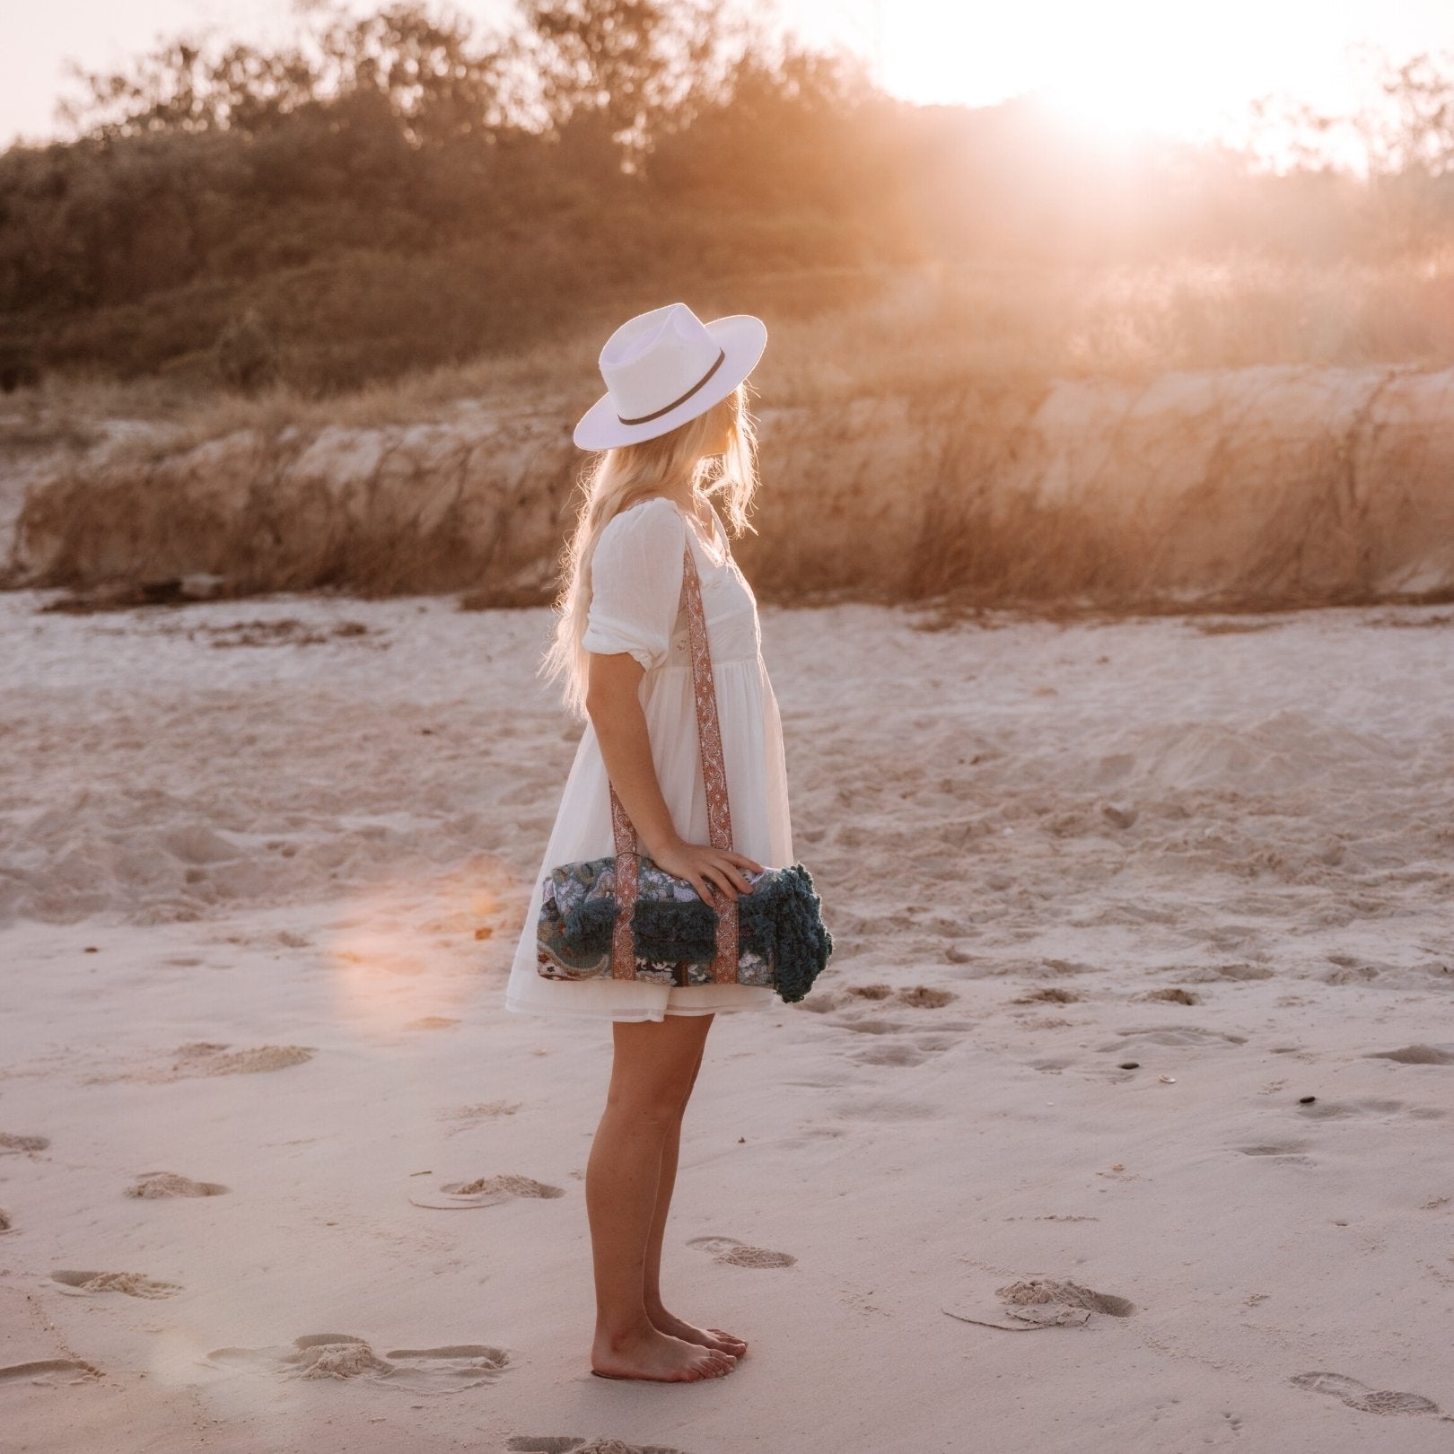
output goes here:
[{"label": "bright pale sky above the trees and sun-glared hill", "polygon": [[[509,0],[454,7],[487,23],[510,10]],[[906,99],[981,106],[1038,93],[1109,134],[1234,132],[1248,103],[1271,93],[1348,111],[1371,74],[1359,47],[1396,61],[1421,51],[1454,58],[1454,0],[775,0],[760,9],[806,41],[858,51]],[[115,70],[158,38],[198,28],[265,41],[291,25],[292,0],[0,0],[0,147],[55,134],[55,102],[74,89],[67,58]]]}]

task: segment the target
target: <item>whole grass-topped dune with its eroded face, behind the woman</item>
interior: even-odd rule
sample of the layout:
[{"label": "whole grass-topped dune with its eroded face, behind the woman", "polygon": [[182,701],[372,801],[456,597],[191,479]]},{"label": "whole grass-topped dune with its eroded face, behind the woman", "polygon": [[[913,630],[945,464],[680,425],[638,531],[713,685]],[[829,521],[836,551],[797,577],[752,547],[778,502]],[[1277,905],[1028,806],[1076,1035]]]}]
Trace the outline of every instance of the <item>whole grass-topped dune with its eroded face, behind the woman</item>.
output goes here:
[{"label": "whole grass-topped dune with its eroded face, behind the woman", "polygon": [[[1386,394],[1403,398],[1405,375],[1387,368],[1317,381],[1332,364],[1454,364],[1447,318],[1450,254],[1419,269],[877,278],[855,302],[769,320],[755,385],[771,487],[739,558],[775,602],[1064,614],[1394,599],[1387,582],[1423,560],[1429,522],[1448,515],[1442,404],[1415,390],[1394,407]],[[569,425],[601,387],[598,346],[582,336],[332,400],[48,381],[39,400],[0,409],[0,446],[76,455],[22,512],[41,571],[22,576],[95,586],[205,571],[238,593],[544,603],[580,462]],[[1320,401],[1298,404],[1296,369],[1226,387],[1201,375],[1182,403],[1156,394],[1169,372],[1249,364],[1319,365],[1307,387]],[[1077,379],[1083,413],[1061,407],[1047,426],[1041,404],[1057,391],[1064,404]],[[1268,403],[1284,397],[1285,429]],[[1122,414],[1147,411],[1128,435]],[[77,454],[118,419],[147,427],[103,464]],[[443,443],[420,439],[426,422],[452,426]],[[304,468],[326,430],[336,442]],[[362,473],[359,454],[374,461]],[[1412,599],[1445,587],[1425,582]]]}]

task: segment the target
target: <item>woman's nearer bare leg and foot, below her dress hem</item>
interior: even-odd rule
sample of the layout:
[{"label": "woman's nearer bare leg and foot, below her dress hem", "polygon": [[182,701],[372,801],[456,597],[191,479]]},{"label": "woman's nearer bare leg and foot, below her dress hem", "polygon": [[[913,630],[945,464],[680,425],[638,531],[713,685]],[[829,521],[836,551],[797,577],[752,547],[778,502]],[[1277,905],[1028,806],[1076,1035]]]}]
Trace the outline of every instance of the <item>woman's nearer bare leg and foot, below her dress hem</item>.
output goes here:
[{"label": "woman's nearer bare leg and foot, below her dress hem", "polygon": [[590,1365],[624,1378],[688,1381],[730,1373],[736,1358],[660,1332],[646,1310],[646,1253],[667,1136],[701,1059],[711,1015],[616,1022],[606,1108],[586,1162],[596,1278]]}]

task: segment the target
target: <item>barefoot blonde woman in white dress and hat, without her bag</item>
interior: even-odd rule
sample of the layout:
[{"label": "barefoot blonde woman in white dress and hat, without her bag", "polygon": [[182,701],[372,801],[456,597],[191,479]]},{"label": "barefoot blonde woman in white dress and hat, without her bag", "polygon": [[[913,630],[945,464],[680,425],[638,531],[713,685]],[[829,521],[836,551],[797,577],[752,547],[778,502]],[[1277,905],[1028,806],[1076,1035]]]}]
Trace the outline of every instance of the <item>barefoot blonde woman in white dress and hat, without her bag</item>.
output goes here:
[{"label": "barefoot blonde woman in white dress and hat, without her bag", "polygon": [[[733,532],[758,489],[744,379],[766,329],[734,314],[702,323],[672,304],[606,342],[606,394],[576,426],[596,451],[564,555],[555,637],[542,669],[564,679],[585,720],[506,989],[526,1015],[612,1022],[605,1112],[586,1165],[596,1284],[592,1371],[691,1381],[730,1373],[747,1343],[669,1312],[662,1243],[676,1181],[682,1112],[712,1018],[762,1011],[759,984],[689,984],[682,965],[648,979],[551,979],[537,954],[541,881],[569,862],[615,853],[614,784],[638,848],[707,901],[750,891],[747,875],[792,862],[778,702],[762,660],[758,603],[731,558]],[[701,579],[733,826],[733,849],[708,846],[692,692],[683,545]],[[643,961],[638,961],[641,964]]]}]

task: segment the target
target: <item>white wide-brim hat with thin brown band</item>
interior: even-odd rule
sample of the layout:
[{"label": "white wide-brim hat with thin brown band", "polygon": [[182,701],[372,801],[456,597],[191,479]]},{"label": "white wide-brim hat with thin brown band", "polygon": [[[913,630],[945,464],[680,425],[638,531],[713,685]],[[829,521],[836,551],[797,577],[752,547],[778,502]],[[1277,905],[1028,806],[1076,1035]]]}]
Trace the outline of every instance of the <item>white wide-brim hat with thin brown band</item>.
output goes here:
[{"label": "white wide-brim hat with thin brown band", "polygon": [[720,404],[756,368],[768,327],[750,313],[712,323],[685,302],[622,323],[601,350],[606,393],[576,425],[582,449],[615,449],[669,433]]}]

